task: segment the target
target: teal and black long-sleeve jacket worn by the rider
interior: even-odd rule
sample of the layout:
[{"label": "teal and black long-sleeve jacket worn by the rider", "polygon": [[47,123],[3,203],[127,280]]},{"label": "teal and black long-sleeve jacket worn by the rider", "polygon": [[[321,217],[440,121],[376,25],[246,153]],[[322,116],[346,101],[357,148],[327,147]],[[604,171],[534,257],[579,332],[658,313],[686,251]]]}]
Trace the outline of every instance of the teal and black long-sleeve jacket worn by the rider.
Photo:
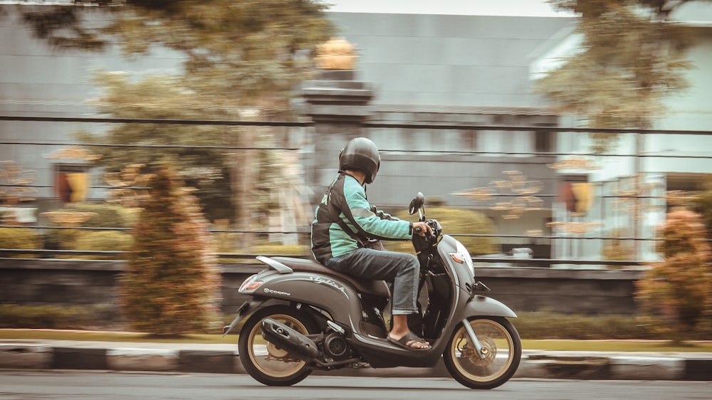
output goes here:
[{"label": "teal and black long-sleeve jacket worn by the rider", "polygon": [[312,253],[316,260],[325,263],[329,258],[354,251],[368,238],[407,240],[412,233],[411,222],[375,209],[359,181],[340,172],[314,212]]}]

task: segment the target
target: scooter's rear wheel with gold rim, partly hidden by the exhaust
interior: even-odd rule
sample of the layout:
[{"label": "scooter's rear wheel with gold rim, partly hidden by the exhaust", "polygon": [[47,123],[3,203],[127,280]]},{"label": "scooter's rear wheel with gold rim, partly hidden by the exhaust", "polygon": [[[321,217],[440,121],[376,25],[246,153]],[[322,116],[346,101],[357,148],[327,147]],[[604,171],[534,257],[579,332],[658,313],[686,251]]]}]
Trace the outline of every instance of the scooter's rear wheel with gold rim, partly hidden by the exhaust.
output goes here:
[{"label": "scooter's rear wheel with gold rim, partly hidden by the exhaust", "polygon": [[258,310],[240,331],[238,349],[240,362],[251,377],[268,386],[291,386],[311,373],[309,364],[276,345],[263,340],[262,320],[272,318],[303,335],[316,333],[312,317],[287,305],[274,305]]}]

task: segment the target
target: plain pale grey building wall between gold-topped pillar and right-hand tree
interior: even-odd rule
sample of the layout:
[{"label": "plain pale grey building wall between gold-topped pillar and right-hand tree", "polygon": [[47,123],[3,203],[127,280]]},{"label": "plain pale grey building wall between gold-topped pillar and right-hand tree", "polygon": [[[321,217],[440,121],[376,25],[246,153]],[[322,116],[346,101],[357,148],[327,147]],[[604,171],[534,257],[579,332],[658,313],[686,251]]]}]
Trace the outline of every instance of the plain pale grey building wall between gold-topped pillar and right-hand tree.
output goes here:
[{"label": "plain pale grey building wall between gold-topped pillar and right-hand tree", "polygon": [[568,18],[331,13],[377,105],[540,107],[533,54]]}]

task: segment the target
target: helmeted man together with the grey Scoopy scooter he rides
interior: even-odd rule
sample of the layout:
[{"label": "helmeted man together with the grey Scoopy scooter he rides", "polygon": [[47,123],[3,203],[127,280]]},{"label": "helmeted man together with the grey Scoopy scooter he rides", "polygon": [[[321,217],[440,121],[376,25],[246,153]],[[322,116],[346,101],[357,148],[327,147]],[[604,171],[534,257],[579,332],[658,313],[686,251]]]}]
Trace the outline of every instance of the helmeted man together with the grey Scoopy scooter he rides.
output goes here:
[{"label": "helmeted man together with the grey Scoopy scooter he rides", "polygon": [[[244,321],[238,349],[246,372],[266,385],[290,386],[316,370],[433,367],[442,360],[473,389],[508,381],[522,351],[508,320],[516,314],[483,295],[488,288],[476,280],[467,248],[427,218],[421,192],[408,207],[419,216],[414,223],[368,203],[364,185],[380,167],[370,140],[348,142],[339,167],[312,225],[319,262],[258,256],[266,267],[240,285],[248,300],[223,332]],[[408,238],[417,258],[368,248],[374,239]],[[421,285],[427,288],[422,313]],[[390,330],[382,316],[388,302]]]}]

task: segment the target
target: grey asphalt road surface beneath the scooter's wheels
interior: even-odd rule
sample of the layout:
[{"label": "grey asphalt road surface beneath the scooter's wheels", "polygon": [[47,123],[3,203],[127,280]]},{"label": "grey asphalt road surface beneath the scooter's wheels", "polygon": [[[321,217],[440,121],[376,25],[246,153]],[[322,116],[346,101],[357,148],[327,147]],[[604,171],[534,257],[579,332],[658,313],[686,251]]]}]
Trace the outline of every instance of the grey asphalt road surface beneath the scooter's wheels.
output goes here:
[{"label": "grey asphalt road surface beneath the scooter's wheels", "polygon": [[709,399],[712,381],[513,379],[473,391],[452,379],[308,377],[268,387],[246,375],[0,371],[1,399]]}]

